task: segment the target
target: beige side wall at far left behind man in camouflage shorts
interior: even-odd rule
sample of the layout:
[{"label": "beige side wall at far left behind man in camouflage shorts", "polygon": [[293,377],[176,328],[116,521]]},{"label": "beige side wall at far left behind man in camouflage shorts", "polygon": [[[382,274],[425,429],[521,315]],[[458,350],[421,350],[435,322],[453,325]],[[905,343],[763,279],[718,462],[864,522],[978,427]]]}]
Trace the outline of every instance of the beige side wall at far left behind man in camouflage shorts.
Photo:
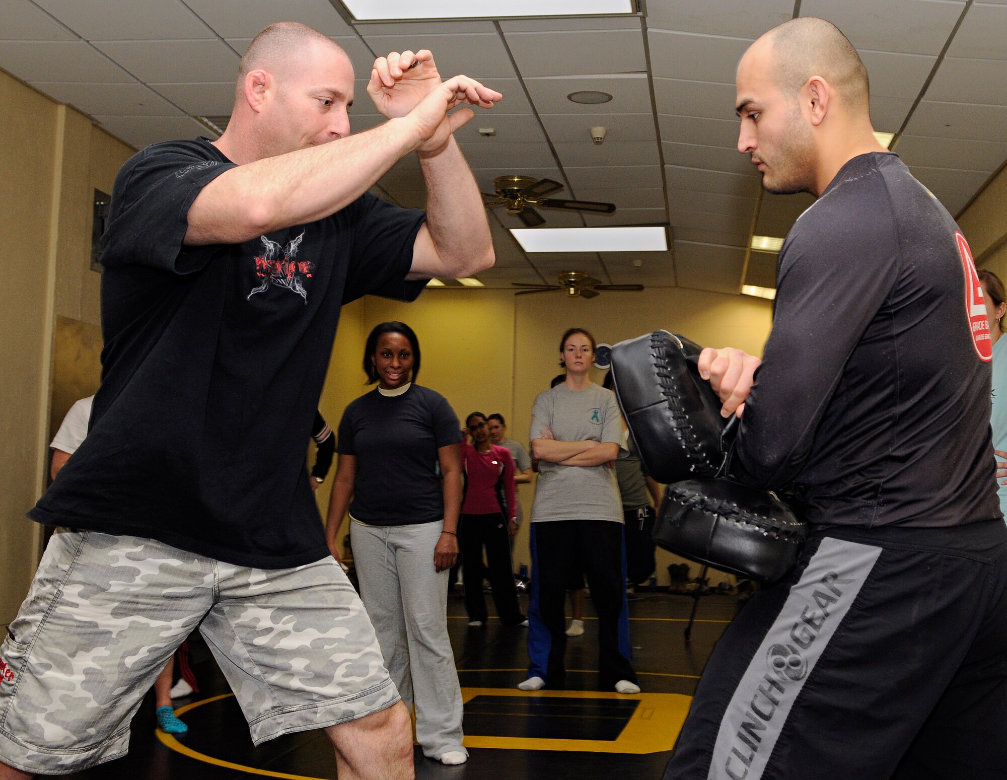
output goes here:
[{"label": "beige side wall at far left behind man in camouflage shorts", "polygon": [[[56,416],[56,406],[63,403],[50,398],[53,374],[65,368],[55,362],[62,356],[80,362],[82,355],[66,339],[53,348],[56,316],[67,318],[63,336],[77,334],[85,352],[93,355],[100,277],[90,269],[92,190],[111,187],[116,170],[133,150],[94,128],[84,115],[2,72],[0,116],[0,235],[5,244],[0,260],[5,278],[0,306],[3,626],[27,592],[39,552],[39,528],[24,513],[45,487],[50,414]],[[69,320],[77,320],[78,327]],[[80,366],[68,368],[77,371]],[[84,374],[97,386],[93,366],[88,371]]]}]

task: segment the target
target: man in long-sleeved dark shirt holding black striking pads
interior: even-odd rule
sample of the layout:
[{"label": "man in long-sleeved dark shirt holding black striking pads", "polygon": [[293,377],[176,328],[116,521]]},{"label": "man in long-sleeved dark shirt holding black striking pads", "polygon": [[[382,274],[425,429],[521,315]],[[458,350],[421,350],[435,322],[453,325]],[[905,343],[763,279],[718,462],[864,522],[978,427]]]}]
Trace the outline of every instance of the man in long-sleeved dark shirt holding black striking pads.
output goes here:
[{"label": "man in long-sleeved dark shirt holding black striking pads", "polygon": [[763,360],[699,368],[740,416],[732,476],[786,491],[810,533],[718,643],[666,780],[1002,777],[1007,529],[968,243],[875,140],[832,24],[770,30],[737,89],[763,186],[818,201],[779,253]]}]

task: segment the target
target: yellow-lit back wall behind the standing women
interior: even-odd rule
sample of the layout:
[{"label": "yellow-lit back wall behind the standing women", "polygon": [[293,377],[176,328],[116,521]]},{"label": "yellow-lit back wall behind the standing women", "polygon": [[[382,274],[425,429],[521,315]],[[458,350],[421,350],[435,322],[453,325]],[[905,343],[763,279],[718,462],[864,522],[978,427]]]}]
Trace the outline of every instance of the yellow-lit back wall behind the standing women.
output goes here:
[{"label": "yellow-lit back wall behind the standing women", "polygon": [[[442,393],[459,419],[474,410],[500,412],[510,435],[527,442],[532,403],[559,373],[559,340],[567,328],[586,328],[608,344],[664,328],[703,345],[739,347],[758,355],[770,317],[771,305],[759,298],[682,289],[605,293],[592,300],[568,300],[559,293],[515,296],[508,290],[428,290],[415,303],[368,297],[359,319],[353,311],[340,324],[322,411],[335,427],[345,403],[369,389],[361,384],[364,340],[374,326],[390,319],[416,331],[423,351],[421,383]],[[358,334],[351,339],[347,331],[357,324]],[[353,339],[353,354],[340,355],[340,345]],[[337,363],[348,373],[341,374]],[[602,376],[595,372],[597,381]],[[328,490],[328,484],[319,490],[324,494],[318,496],[320,506]],[[534,495],[534,486],[521,487],[526,516]],[[515,563],[530,559],[526,524],[515,546]],[[659,560],[662,582],[671,561],[666,553]]]}]

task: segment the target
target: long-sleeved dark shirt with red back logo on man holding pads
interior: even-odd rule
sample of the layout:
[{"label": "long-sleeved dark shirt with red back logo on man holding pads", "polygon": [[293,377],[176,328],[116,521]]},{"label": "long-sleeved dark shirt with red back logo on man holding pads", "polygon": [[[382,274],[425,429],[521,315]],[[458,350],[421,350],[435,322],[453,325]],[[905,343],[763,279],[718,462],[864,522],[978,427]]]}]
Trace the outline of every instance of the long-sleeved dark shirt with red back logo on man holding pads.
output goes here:
[{"label": "long-sleeved dark shirt with red back logo on man holding pads", "polygon": [[1000,516],[986,311],[961,231],[894,154],[850,160],[779,253],[738,476],[814,523]]}]

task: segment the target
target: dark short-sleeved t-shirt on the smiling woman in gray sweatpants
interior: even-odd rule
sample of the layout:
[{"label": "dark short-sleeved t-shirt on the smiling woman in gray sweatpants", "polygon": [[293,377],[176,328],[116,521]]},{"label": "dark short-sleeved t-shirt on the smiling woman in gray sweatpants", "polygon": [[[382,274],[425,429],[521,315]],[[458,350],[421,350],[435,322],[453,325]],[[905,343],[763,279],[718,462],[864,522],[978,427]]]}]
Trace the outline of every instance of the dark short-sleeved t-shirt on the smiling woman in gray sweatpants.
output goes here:
[{"label": "dark short-sleeved t-shirt on the smiling woman in gray sweatpants", "polygon": [[440,393],[417,384],[402,395],[377,389],[346,407],[336,451],[356,458],[349,514],[368,525],[415,525],[444,517],[437,449],[461,441]]}]

